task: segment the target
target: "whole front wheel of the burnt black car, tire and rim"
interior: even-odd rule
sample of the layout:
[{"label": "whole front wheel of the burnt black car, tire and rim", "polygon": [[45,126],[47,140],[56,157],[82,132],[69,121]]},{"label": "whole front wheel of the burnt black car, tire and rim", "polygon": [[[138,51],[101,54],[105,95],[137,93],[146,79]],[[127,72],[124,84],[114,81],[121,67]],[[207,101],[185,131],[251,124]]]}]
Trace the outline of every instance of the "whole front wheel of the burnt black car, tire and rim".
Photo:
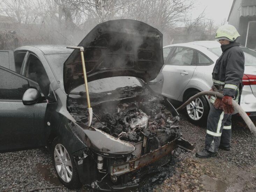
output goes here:
[{"label": "whole front wheel of the burnt black car, tire and rim", "polygon": [[68,189],[78,189],[82,186],[74,158],[59,138],[52,143],[52,163],[60,182]]}]

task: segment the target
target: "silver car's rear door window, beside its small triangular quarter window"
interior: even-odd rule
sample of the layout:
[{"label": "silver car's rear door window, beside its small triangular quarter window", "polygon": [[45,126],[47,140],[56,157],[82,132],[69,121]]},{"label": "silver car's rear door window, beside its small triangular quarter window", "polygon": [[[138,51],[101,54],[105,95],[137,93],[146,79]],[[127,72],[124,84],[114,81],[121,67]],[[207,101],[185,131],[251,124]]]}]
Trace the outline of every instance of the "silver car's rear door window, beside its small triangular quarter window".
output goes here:
[{"label": "silver car's rear door window, beside its small triangular quarter window", "polygon": [[196,65],[194,62],[194,51],[186,47],[176,47],[175,52],[167,65]]}]

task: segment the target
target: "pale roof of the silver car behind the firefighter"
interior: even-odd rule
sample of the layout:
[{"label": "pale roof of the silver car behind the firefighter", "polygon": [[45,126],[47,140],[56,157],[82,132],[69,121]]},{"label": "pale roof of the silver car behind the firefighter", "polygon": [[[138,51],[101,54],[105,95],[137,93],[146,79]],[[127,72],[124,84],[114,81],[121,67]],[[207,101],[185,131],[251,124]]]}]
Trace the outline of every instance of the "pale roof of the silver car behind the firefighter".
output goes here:
[{"label": "pale roof of the silver car behind the firefighter", "polygon": [[170,46],[186,46],[186,47],[191,47],[195,49],[197,49],[198,46],[200,46],[208,49],[208,48],[220,47],[220,43],[218,43],[217,41],[205,40],[205,41],[194,41],[194,42],[188,42],[188,43],[177,43],[177,44],[164,46],[164,48],[170,47]]}]

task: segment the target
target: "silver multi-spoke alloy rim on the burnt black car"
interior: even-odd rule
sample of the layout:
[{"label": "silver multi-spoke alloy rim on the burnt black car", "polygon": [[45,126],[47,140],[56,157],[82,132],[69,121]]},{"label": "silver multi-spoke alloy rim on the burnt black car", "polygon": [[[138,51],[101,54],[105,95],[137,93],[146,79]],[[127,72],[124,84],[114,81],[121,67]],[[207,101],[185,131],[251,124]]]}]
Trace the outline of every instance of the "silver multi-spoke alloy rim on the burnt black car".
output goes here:
[{"label": "silver multi-spoke alloy rim on the burnt black car", "polygon": [[66,183],[72,179],[72,163],[66,148],[57,144],[54,148],[54,162],[59,177]]}]

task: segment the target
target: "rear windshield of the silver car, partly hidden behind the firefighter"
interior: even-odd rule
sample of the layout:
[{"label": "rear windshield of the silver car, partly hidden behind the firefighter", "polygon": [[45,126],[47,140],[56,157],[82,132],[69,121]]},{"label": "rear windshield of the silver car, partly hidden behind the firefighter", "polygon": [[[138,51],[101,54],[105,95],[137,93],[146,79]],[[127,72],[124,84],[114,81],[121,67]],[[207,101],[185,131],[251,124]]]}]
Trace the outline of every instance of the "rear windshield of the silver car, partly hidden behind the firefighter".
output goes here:
[{"label": "rear windshield of the silver car, partly hidden behind the firefighter", "polygon": [[[241,47],[241,49],[243,50],[244,57],[245,57],[244,65],[245,66],[256,65],[256,51],[253,51],[253,50],[248,49],[246,47]],[[221,56],[222,50],[221,50],[220,47],[210,48],[208,50],[213,52],[218,57]]]}]

